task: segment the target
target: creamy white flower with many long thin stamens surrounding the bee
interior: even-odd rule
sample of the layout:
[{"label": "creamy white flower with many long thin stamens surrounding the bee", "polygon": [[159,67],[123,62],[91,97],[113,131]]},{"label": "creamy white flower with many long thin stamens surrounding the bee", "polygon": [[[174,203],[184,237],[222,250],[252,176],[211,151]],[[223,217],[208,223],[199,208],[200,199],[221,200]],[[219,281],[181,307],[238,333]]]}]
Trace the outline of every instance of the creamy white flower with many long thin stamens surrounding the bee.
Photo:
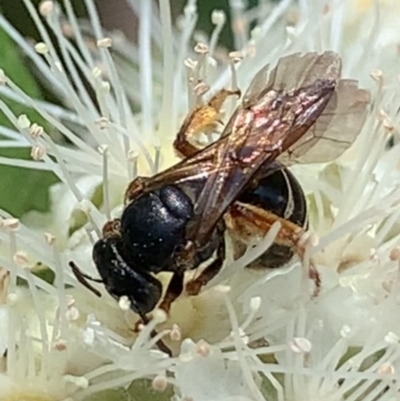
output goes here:
[{"label": "creamy white flower with many long thin stamens surrounding the bee", "polygon": [[[0,100],[15,127],[0,127],[0,134],[30,148],[33,159],[1,163],[53,171],[60,179],[46,217],[32,212],[21,224],[1,212],[0,398],[81,400],[150,378],[153,389],[173,386],[175,399],[186,401],[397,399],[398,5],[282,0],[245,12],[242,1],[231,1],[239,53],[228,56],[217,47],[226,23],[221,11],[212,14],[211,37],[192,48],[193,0],[177,28],[167,0],[159,12],[150,1],[129,1],[139,17],[137,45],[104,32],[92,0],[85,1],[86,26],[69,1],[66,15],[57,3],[43,2],[44,21],[30,0],[24,3],[42,42],[32,46],[3,16],[0,25],[66,108],[30,98],[7,71],[0,92],[37,110],[46,129],[68,144]],[[273,226],[239,260],[228,255],[199,296],[180,297],[167,320],[156,311],[134,333],[138,317],[126,299],[116,302],[101,285],[97,298],[77,283],[68,262],[97,276],[91,251],[102,226],[121,213],[130,180],[178,160],[172,141],[200,94],[244,90],[265,64],[326,49],[341,55],[343,76],[369,88],[373,101],[359,138],[339,160],[293,167],[310,210],[302,260],[271,271],[244,269],[273,242]],[[227,102],[227,115],[234,106]],[[32,274],[38,263],[55,272],[54,284]],[[318,294],[310,268],[321,277]],[[160,276],[164,284],[169,279]],[[161,338],[174,358],[155,347]]]}]

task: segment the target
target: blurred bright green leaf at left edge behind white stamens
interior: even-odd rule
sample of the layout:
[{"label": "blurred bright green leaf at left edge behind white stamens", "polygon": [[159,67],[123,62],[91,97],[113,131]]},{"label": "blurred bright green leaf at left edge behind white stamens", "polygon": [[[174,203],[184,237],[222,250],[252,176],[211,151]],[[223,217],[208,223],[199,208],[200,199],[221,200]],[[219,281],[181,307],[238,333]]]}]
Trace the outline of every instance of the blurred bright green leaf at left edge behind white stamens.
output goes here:
[{"label": "blurred bright green leaf at left edge behind white stamens", "polygon": [[[2,30],[0,30],[0,54],[0,68],[5,71],[6,75],[29,96],[41,98],[40,88],[25,65],[18,47]],[[4,97],[1,97],[1,100],[17,116],[26,114],[30,121],[46,128],[46,122],[26,105]],[[0,125],[13,128],[2,112],[0,112]],[[30,149],[0,148],[0,156],[30,159]],[[0,165],[0,208],[16,217],[20,217],[32,209],[41,212],[47,211],[50,207],[48,189],[56,181],[56,176],[50,172]]]}]

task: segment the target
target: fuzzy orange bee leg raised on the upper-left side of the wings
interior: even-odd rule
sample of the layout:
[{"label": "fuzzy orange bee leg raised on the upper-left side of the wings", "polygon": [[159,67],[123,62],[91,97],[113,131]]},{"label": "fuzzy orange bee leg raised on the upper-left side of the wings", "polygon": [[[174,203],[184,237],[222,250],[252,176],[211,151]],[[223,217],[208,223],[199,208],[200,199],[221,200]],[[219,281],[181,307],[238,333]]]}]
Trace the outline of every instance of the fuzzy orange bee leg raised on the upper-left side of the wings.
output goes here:
[{"label": "fuzzy orange bee leg raised on the upper-left side of the wings", "polygon": [[202,149],[190,142],[190,138],[201,132],[215,131],[220,123],[221,107],[225,100],[230,96],[240,97],[239,90],[221,89],[218,91],[207,104],[195,107],[189,112],[183,121],[176,139],[174,148],[184,157],[190,157]]}]

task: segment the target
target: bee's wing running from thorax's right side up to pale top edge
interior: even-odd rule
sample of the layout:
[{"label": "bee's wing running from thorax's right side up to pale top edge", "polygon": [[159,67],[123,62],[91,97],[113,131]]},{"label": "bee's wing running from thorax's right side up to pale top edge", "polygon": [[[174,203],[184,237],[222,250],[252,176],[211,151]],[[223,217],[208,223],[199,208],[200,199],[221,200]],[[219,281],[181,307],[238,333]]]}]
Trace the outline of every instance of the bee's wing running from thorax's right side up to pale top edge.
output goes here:
[{"label": "bee's wing running from thorax's right side up to pale top edge", "polygon": [[[341,60],[334,52],[307,53],[303,56],[293,54],[280,59],[269,74],[268,69],[265,66],[256,74],[245,92],[242,105],[233,114],[215,148],[217,169],[207,180],[196,202],[196,218],[189,230],[189,237],[200,242],[208,237],[216,222],[260,166],[272,162],[286,150],[285,137],[291,135],[293,142],[301,138],[326,105],[310,117],[310,122],[305,119],[300,127],[286,126],[271,133],[268,129],[276,122],[276,117],[270,116],[267,109],[261,116],[265,120],[261,126],[257,126],[255,121],[249,121],[247,126],[235,126],[238,115],[245,115],[246,109],[256,106],[265,96],[274,96],[274,93],[301,90],[303,87],[313,86],[318,80],[336,83],[340,77]],[[279,143],[280,151],[277,150],[278,146],[274,146]],[[237,160],[235,154],[238,155]],[[264,166],[264,170],[267,169]]]}]

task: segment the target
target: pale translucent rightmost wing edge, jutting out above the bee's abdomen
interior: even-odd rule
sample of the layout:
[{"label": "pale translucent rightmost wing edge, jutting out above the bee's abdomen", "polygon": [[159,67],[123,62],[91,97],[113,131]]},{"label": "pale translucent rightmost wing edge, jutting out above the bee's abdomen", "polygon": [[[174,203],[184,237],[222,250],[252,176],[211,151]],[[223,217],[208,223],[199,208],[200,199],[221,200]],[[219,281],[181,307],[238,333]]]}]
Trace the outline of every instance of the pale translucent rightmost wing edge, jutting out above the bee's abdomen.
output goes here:
[{"label": "pale translucent rightmost wing edge, jutting out above the bee's abdomen", "polygon": [[[340,80],[335,93],[315,124],[279,161],[322,163],[338,158],[356,139],[368,114],[369,92],[359,89],[357,81]],[[318,142],[318,146],[315,146]]]}]

